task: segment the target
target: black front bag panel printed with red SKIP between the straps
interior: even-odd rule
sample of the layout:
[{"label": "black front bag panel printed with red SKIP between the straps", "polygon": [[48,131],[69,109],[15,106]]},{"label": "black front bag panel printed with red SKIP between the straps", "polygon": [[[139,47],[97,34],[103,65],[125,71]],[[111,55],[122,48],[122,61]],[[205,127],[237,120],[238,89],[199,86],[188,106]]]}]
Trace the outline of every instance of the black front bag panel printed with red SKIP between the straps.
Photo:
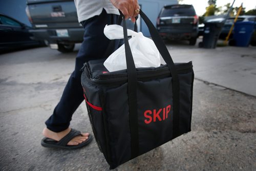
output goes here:
[{"label": "black front bag panel printed with red SKIP between the straps", "polygon": [[139,154],[173,137],[172,78],[138,81]]}]

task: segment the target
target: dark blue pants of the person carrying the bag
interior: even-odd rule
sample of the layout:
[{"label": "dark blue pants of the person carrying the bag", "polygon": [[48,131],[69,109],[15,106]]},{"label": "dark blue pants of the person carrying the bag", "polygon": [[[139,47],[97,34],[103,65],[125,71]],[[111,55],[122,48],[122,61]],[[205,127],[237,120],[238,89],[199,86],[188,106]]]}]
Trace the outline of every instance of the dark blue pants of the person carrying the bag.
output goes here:
[{"label": "dark blue pants of the person carrying the bag", "polygon": [[[72,115],[84,100],[81,86],[81,71],[83,63],[104,57],[110,40],[105,37],[105,25],[116,24],[118,15],[107,14],[105,10],[99,16],[94,16],[81,22],[84,27],[83,42],[76,57],[75,70],[63,91],[62,97],[54,109],[53,115],[46,121],[47,128],[53,132],[61,132],[69,127]],[[119,41],[116,41],[118,47]]]}]

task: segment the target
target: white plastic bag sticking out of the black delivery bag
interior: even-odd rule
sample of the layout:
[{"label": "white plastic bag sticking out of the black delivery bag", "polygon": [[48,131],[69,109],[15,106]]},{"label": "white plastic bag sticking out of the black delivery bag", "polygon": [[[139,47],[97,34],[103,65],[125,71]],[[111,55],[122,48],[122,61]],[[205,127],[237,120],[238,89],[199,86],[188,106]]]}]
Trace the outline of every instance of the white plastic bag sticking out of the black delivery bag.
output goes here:
[{"label": "white plastic bag sticking out of the black delivery bag", "polygon": [[[127,29],[127,33],[128,36],[132,36],[129,40],[129,44],[133,54],[135,67],[159,67],[161,65],[161,59],[154,41],[144,37],[141,32],[137,33]],[[123,28],[119,25],[105,26],[104,34],[109,39],[121,39],[123,38]],[[109,72],[126,69],[124,45],[118,48],[105,60],[104,66]]]}]

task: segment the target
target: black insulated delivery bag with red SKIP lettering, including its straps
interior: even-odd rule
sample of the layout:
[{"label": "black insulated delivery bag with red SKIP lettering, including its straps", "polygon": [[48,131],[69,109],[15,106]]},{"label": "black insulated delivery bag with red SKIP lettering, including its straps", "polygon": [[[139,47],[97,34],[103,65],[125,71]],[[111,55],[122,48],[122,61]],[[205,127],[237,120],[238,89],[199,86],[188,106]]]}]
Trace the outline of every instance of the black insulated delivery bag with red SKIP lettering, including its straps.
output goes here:
[{"label": "black insulated delivery bag with red SKIP lettering, including its straps", "polygon": [[127,69],[108,72],[105,59],[91,60],[81,76],[93,133],[110,169],[190,131],[192,62],[174,63],[154,25],[140,16],[166,65],[135,68],[123,19]]}]

